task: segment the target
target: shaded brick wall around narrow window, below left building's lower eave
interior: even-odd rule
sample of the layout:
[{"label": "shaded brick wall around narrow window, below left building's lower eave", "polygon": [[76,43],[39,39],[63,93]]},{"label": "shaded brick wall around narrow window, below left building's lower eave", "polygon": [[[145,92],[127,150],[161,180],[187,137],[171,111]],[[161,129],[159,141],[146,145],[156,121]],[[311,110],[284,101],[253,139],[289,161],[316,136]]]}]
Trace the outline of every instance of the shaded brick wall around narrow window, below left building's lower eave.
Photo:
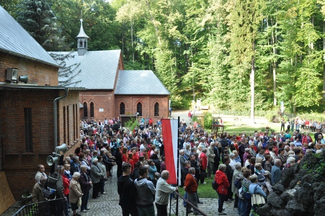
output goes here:
[{"label": "shaded brick wall around narrow window, below left building's lower eave", "polygon": [[[53,149],[54,90],[0,90],[0,122],[4,170],[14,197],[32,189],[38,164]],[[32,151],[26,150],[24,108],[31,108]]]}]

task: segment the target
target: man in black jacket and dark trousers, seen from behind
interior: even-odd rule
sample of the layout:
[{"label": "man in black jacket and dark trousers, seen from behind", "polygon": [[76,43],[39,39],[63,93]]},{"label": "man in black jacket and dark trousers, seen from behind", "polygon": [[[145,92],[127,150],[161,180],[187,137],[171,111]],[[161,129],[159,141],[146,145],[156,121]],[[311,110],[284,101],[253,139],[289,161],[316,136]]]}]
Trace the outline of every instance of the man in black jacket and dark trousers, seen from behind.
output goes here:
[{"label": "man in black jacket and dark trousers, seen from behind", "polygon": [[129,178],[131,173],[131,164],[122,164],[123,175],[121,175],[117,180],[117,192],[119,194],[118,204],[122,208],[123,216],[131,214],[131,216],[138,216],[136,209],[136,189],[135,184],[132,179]]}]

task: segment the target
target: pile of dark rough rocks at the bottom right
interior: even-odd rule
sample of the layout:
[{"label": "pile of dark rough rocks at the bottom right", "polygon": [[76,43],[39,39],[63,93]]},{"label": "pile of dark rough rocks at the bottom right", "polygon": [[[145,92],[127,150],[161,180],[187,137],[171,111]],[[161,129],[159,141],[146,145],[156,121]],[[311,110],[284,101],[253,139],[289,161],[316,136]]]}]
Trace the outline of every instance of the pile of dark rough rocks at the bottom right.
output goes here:
[{"label": "pile of dark rough rocks at the bottom right", "polygon": [[[285,168],[281,180],[267,196],[267,203],[256,210],[260,216],[323,216],[325,215],[325,184],[314,181],[314,172],[304,169],[305,163],[317,164],[321,157],[308,154],[300,163]],[[322,154],[325,158],[325,153]]]}]

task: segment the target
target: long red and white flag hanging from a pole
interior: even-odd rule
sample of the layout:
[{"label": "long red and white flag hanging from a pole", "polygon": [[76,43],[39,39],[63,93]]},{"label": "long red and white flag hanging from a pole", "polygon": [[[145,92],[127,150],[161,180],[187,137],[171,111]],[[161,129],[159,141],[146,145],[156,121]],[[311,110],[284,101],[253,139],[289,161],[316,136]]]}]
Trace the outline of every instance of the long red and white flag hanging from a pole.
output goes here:
[{"label": "long red and white flag hanging from a pole", "polygon": [[165,153],[166,170],[169,171],[167,183],[176,184],[177,176],[180,185],[180,165],[178,165],[177,175],[177,139],[178,139],[178,120],[161,119],[163,147]]}]

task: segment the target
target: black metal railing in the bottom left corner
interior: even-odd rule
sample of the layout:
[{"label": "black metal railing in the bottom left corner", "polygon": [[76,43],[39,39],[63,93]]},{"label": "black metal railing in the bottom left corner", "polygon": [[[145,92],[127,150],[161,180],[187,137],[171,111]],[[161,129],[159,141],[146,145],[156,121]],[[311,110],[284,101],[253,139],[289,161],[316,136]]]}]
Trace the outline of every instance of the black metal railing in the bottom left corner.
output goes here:
[{"label": "black metal railing in the bottom left corner", "polygon": [[64,198],[31,203],[22,206],[12,216],[65,216]]}]

